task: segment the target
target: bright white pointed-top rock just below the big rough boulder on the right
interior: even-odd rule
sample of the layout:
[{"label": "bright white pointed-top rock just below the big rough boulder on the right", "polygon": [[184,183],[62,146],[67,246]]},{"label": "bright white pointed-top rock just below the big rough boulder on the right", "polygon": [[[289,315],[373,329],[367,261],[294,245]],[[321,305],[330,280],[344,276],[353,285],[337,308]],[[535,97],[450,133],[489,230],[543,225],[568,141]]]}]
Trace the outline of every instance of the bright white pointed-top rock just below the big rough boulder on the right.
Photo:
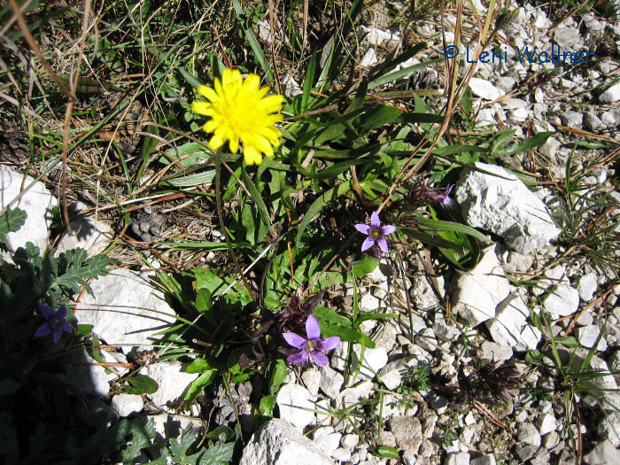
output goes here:
[{"label": "bright white pointed-top rock just below the big rough boulder on the right", "polygon": [[469,273],[455,277],[453,290],[453,312],[471,327],[495,316],[496,306],[510,293],[510,284],[503,276],[494,247],[486,249],[482,260]]}]

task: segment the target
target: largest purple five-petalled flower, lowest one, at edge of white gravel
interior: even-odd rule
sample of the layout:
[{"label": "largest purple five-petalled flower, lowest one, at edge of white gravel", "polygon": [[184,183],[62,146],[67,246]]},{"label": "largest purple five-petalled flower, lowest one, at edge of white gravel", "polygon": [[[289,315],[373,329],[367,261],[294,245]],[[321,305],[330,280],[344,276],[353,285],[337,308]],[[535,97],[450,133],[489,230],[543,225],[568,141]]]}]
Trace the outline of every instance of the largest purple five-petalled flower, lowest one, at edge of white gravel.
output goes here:
[{"label": "largest purple five-petalled flower, lowest one, at edge of white gravel", "polygon": [[287,343],[301,350],[300,353],[293,353],[286,360],[302,367],[313,361],[319,367],[327,365],[329,360],[323,352],[332,351],[340,344],[340,337],[332,336],[327,339],[321,337],[321,326],[312,314],[306,320],[307,339],[295,333],[283,333],[282,337]]}]

